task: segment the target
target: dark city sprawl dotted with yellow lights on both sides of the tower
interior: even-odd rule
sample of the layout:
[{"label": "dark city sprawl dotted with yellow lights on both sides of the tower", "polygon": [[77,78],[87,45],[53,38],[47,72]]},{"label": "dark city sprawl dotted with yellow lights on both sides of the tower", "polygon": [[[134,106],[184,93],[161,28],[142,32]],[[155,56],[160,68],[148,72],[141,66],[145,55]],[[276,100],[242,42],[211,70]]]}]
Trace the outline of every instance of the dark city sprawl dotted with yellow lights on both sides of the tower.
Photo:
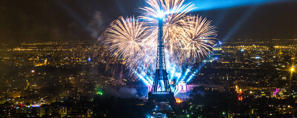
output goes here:
[{"label": "dark city sprawl dotted with yellow lights on both sides of the tower", "polygon": [[[187,84],[177,85],[181,94],[177,94],[178,102],[190,99],[193,101],[195,98],[205,101],[201,95],[211,92],[219,95],[233,92],[233,96],[237,96],[234,101],[243,105],[237,107],[243,108],[242,111],[226,109],[225,114],[230,117],[240,114],[293,116],[296,113],[297,100],[296,64],[294,65],[297,47],[284,44],[296,41],[275,40],[263,45],[257,40],[238,40],[217,45],[213,48],[213,54],[200,62],[204,63],[200,74],[195,75]],[[100,51],[94,55],[97,50],[94,45],[96,44],[91,41],[2,43],[0,58],[1,71],[4,73],[1,75],[1,114],[23,114],[29,117],[51,114],[59,114],[61,117],[91,117],[94,110],[92,100],[98,96],[109,94],[106,96],[147,99],[146,94],[150,86],[137,81],[136,77],[120,78],[116,74],[106,72],[106,68],[102,68],[106,66],[106,62]],[[121,61],[117,63],[122,64]],[[99,69],[93,71],[94,68]],[[181,86],[184,86],[183,90]],[[125,89],[134,93],[124,91]],[[198,91],[201,94],[193,94]],[[183,94],[188,96],[183,97]],[[255,100],[270,100],[265,102],[270,106],[259,108],[259,103]],[[66,101],[68,103],[63,104]],[[138,104],[144,102],[138,101]],[[245,102],[250,104],[244,105]],[[68,106],[69,103],[86,105],[77,108]],[[192,107],[208,105],[202,101],[187,104]],[[45,109],[47,112],[42,112]],[[214,114],[222,115],[215,112],[219,109],[212,109]]]}]

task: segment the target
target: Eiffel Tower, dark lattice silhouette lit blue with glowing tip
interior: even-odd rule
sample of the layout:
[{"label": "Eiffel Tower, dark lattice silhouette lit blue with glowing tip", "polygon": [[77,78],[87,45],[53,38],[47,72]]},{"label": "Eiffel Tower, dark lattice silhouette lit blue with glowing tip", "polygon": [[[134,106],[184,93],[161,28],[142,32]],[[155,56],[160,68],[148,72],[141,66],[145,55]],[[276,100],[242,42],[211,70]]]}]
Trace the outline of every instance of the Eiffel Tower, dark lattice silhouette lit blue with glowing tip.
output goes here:
[{"label": "Eiffel Tower, dark lattice silhouette lit blue with glowing tip", "polygon": [[168,73],[165,65],[165,53],[164,53],[164,40],[163,40],[163,16],[158,17],[158,48],[157,48],[157,63],[156,72],[154,73],[154,83],[151,91],[148,94],[148,100],[144,105],[143,111],[145,114],[157,114],[166,113],[179,114],[176,99],[174,98],[173,91],[171,91]]}]

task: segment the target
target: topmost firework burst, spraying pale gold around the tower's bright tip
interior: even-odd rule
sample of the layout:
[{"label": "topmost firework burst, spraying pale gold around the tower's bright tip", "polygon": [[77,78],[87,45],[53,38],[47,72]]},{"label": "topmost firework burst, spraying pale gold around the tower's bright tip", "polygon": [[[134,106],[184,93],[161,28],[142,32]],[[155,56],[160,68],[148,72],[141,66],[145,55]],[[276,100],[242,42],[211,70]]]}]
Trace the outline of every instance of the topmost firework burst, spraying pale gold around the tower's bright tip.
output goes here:
[{"label": "topmost firework burst, spraying pale gold around the tower's bright tip", "polygon": [[[165,48],[173,54],[176,47],[181,47],[180,40],[172,32],[182,31],[184,26],[184,20],[182,19],[185,14],[195,9],[194,4],[183,4],[184,0],[147,0],[149,7],[140,8],[145,11],[144,16],[140,16],[141,19],[146,20],[146,24],[149,25],[151,32],[151,42],[157,40],[158,35],[158,14],[164,14],[163,17],[163,35]],[[162,11],[165,12],[162,12]]]}]

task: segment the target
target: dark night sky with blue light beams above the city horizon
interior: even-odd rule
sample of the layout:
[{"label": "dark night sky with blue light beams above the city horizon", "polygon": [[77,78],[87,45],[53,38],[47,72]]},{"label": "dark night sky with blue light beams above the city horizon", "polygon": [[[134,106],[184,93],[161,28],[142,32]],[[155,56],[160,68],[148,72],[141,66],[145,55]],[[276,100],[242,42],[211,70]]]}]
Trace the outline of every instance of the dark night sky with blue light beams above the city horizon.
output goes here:
[{"label": "dark night sky with blue light beams above the city horizon", "polygon": [[[193,0],[186,0],[189,3]],[[190,14],[212,20],[218,39],[295,39],[297,1],[239,4],[199,4]],[[227,0],[228,1],[228,0]],[[236,2],[239,2],[238,0]],[[255,0],[257,1],[257,0]],[[200,9],[200,6],[208,8]],[[2,0],[2,42],[97,40],[108,24],[120,16],[139,16],[144,0]]]}]

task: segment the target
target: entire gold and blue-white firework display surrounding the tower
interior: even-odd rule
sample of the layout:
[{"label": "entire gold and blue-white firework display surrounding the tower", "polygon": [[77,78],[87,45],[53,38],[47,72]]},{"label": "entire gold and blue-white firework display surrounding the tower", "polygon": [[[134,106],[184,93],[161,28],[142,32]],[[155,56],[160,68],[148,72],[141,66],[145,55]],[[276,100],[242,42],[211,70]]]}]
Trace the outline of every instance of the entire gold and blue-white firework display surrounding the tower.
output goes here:
[{"label": "entire gold and blue-white firework display surrounding the tower", "polygon": [[110,24],[103,35],[106,49],[111,56],[124,60],[130,75],[147,85],[151,84],[156,68],[157,17],[162,9],[165,11],[163,33],[169,81],[172,85],[190,81],[196,73],[191,70],[193,62],[208,55],[214,45],[214,37],[211,36],[216,35],[215,27],[207,19],[187,16],[195,6],[192,3],[183,4],[184,0],[146,2],[149,6],[140,8],[145,12],[139,19],[119,17]]}]

